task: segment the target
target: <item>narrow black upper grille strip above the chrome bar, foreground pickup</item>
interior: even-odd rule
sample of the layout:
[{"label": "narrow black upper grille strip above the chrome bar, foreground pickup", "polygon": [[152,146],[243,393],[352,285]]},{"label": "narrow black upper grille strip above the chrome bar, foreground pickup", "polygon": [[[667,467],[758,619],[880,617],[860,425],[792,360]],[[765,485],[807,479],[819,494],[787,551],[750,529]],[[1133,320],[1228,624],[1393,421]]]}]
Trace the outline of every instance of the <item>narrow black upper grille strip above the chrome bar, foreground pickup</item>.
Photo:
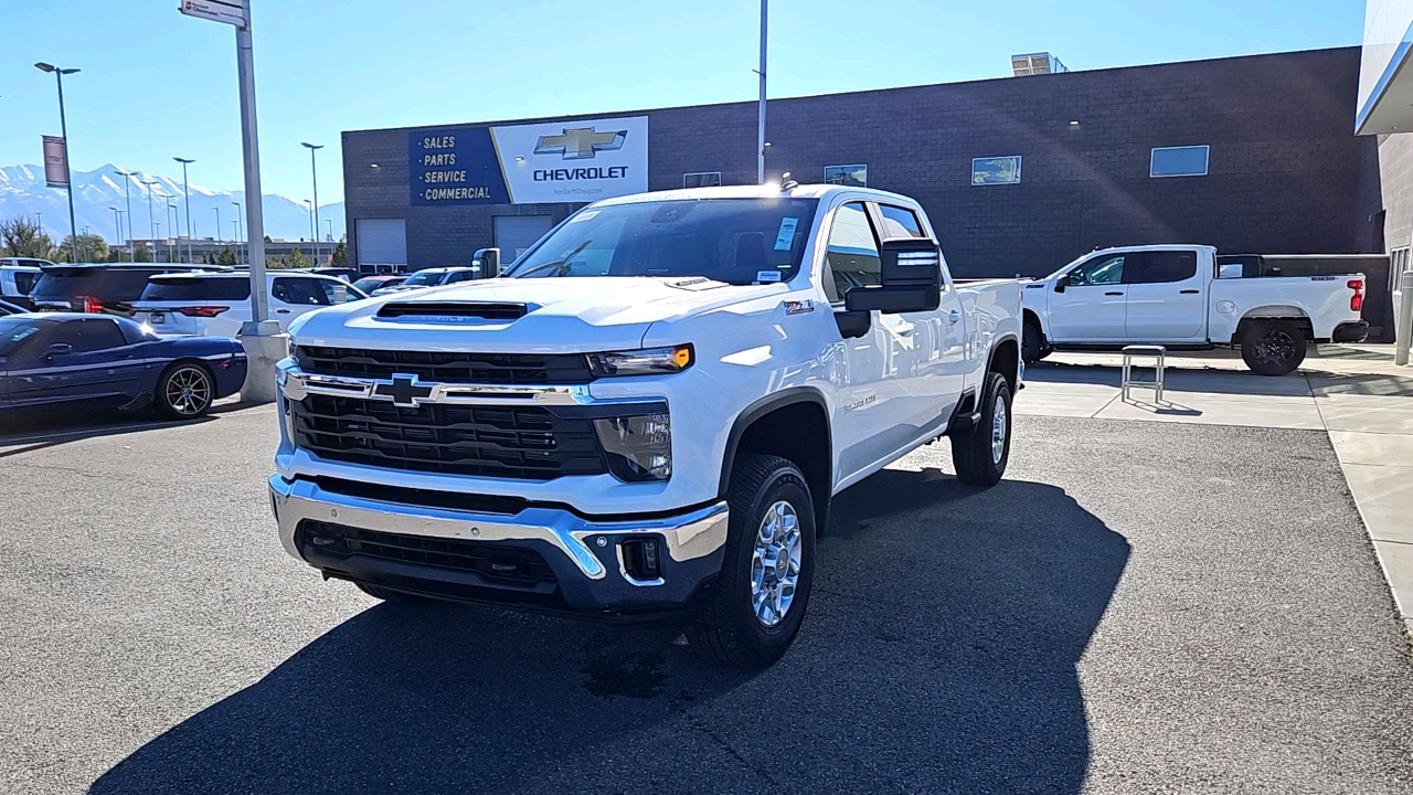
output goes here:
[{"label": "narrow black upper grille strip above the chrome bar, foreground pickup", "polygon": [[463,354],[300,345],[295,361],[304,372],[350,378],[407,373],[445,383],[557,386],[593,381],[582,354]]}]

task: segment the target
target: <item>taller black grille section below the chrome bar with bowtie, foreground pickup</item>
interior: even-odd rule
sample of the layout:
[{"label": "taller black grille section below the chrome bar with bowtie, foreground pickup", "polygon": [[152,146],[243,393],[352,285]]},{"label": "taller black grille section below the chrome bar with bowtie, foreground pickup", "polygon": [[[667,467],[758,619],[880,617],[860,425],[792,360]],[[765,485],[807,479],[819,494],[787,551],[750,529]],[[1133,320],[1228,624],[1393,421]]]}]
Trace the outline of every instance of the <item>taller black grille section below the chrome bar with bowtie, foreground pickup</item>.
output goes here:
[{"label": "taller black grille section below the chrome bar with bowtie, foreground pickup", "polygon": [[295,444],[393,470],[552,480],[608,471],[593,422],[537,406],[424,405],[309,395],[291,402]]}]

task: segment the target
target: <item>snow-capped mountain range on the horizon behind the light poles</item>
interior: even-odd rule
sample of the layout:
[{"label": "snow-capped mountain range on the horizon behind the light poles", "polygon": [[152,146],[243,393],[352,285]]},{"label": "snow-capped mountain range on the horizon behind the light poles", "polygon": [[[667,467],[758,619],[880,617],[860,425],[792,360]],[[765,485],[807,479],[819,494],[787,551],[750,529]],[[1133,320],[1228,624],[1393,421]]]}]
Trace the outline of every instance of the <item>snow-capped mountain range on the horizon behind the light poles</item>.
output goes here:
[{"label": "snow-capped mountain range on the horizon behind the light poles", "polygon": [[[117,174],[117,166],[103,166],[93,171],[73,173],[73,214],[78,219],[79,232],[88,226],[89,232],[102,235],[107,242],[116,242],[117,229],[114,226],[113,211],[116,207],[126,212],[123,201],[123,182],[127,181],[127,192],[133,204],[131,229],[133,238],[146,239],[153,236],[153,226],[148,226],[147,215],[147,185],[143,182],[155,181],[153,185],[151,222],[157,228],[157,236],[165,238],[172,233],[172,211],[167,209],[167,202],[177,205],[177,233],[187,235],[187,201],[184,198],[181,175],[162,177],[147,173],[137,173],[133,177]],[[126,171],[126,168],[124,168]],[[55,242],[69,233],[69,204],[64,188],[49,188],[44,184],[42,166],[8,166],[0,167],[0,219],[17,215],[34,218],[41,215],[45,232]],[[232,202],[246,202],[244,191],[213,191],[191,184],[191,233],[194,238],[216,238],[216,211],[220,211],[220,239],[230,240],[236,236],[237,211]],[[298,240],[309,238],[308,205],[288,199],[277,194],[266,194],[264,201],[264,231],[271,238]],[[240,211],[242,229],[244,228],[244,209]],[[343,236],[343,202],[319,207],[319,239],[328,239],[329,224],[333,222],[333,239]],[[123,219],[123,236],[127,236],[127,218]]]}]

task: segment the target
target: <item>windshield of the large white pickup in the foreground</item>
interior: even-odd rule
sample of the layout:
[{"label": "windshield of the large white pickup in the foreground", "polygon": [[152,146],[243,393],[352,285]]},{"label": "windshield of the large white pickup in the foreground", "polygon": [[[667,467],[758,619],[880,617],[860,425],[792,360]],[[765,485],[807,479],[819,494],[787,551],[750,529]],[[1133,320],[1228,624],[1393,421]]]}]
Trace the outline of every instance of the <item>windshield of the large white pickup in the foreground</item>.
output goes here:
[{"label": "windshield of the large white pickup in the foreground", "polygon": [[729,284],[796,274],[818,199],[647,201],[579,211],[507,276],[705,276]]}]

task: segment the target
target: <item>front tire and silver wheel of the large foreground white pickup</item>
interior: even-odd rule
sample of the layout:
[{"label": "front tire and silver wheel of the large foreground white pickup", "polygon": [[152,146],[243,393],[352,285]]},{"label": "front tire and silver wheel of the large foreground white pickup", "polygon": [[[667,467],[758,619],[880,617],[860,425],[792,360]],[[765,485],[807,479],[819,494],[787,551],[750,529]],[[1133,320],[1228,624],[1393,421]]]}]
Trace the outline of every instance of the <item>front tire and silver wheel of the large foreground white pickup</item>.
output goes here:
[{"label": "front tire and silver wheel of the large foreground white pickup", "polygon": [[721,574],[688,628],[708,659],[760,671],[794,642],[814,581],[814,501],[791,461],[742,454],[726,491],[731,506]]}]

